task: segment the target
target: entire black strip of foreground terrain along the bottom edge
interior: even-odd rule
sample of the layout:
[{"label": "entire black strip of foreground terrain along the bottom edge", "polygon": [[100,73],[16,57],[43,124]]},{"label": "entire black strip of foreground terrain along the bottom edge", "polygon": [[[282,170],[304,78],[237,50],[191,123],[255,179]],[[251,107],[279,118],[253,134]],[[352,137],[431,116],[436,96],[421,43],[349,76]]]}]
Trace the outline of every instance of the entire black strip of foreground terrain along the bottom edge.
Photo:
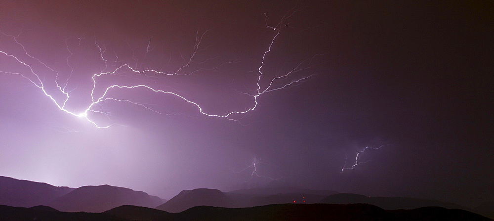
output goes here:
[{"label": "entire black strip of foreground terrain along the bottom edge", "polygon": [[138,206],[120,206],[104,213],[68,213],[46,207],[0,206],[1,221],[491,221],[459,209],[422,207],[383,210],[369,204],[273,204],[251,208],[198,206],[181,213]]}]

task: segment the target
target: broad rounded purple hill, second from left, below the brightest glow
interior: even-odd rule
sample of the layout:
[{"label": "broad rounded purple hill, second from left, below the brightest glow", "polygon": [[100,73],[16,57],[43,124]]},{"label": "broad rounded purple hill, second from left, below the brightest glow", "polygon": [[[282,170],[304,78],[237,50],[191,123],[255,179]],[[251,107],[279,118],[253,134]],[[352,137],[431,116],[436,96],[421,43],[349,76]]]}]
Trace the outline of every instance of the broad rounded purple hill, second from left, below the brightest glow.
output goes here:
[{"label": "broad rounded purple hill, second from left, below the brightest glow", "polygon": [[48,204],[65,212],[101,213],[123,205],[156,207],[163,203],[157,196],[110,185],[82,186]]}]

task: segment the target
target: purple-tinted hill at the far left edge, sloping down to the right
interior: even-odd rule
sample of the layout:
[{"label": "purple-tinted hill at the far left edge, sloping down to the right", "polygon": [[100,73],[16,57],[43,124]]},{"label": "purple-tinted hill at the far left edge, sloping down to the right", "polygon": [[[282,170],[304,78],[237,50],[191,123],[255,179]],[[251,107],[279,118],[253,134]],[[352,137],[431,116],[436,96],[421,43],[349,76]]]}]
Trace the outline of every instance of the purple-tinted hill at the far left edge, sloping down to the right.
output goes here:
[{"label": "purple-tinted hill at the far left edge, sloping down to the right", "polygon": [[75,188],[0,176],[0,205],[33,207],[46,205]]}]

